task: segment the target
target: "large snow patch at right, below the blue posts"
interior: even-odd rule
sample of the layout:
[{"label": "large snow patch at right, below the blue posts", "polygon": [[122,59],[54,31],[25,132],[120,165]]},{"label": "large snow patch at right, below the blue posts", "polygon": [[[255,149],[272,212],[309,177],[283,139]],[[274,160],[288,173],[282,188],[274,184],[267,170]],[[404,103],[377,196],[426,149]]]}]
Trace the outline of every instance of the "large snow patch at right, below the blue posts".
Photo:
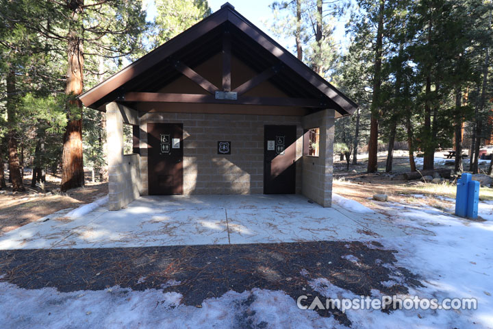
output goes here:
[{"label": "large snow patch at right, below the blue posts", "polygon": [[[399,250],[397,265],[422,277],[426,287],[409,289],[410,296],[439,301],[474,297],[477,310],[396,310],[391,315],[348,310],[355,327],[493,328],[493,207],[480,204],[479,215],[488,221],[460,219],[422,204],[388,203],[389,212],[399,214],[392,216],[396,223],[425,228],[435,235],[380,240],[385,247]],[[353,296],[348,292],[345,297]]]}]

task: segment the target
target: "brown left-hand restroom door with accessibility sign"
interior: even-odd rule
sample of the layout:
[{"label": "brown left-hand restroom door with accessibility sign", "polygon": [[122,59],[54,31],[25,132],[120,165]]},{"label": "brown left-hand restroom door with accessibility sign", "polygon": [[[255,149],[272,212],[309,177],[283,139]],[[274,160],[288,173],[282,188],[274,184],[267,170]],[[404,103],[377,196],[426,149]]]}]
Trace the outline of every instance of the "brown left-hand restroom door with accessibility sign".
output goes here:
[{"label": "brown left-hand restroom door with accessibility sign", "polygon": [[149,195],[183,194],[183,124],[147,123]]}]

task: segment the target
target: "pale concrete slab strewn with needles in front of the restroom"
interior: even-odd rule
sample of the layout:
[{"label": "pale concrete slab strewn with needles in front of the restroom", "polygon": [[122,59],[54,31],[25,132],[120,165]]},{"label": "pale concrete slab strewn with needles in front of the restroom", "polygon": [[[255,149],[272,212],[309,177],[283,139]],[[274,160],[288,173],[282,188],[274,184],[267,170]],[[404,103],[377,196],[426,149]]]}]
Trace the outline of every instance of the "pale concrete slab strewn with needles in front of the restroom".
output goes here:
[{"label": "pale concrete slab strewn with needles in front of the restroom", "polygon": [[197,195],[140,197],[126,209],[104,207],[79,219],[63,212],[0,236],[0,249],[148,247],[355,241],[426,234],[387,217],[302,195]]}]

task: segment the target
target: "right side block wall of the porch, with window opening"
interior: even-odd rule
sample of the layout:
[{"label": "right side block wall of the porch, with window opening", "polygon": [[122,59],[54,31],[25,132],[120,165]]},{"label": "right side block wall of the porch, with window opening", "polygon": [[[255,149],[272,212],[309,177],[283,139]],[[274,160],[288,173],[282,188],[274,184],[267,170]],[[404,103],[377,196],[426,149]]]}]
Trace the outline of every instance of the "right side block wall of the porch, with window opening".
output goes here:
[{"label": "right side block wall of the porch, with window opening", "polygon": [[318,157],[303,156],[302,193],[324,207],[332,205],[334,110],[323,110],[303,117],[303,130],[320,128]]}]

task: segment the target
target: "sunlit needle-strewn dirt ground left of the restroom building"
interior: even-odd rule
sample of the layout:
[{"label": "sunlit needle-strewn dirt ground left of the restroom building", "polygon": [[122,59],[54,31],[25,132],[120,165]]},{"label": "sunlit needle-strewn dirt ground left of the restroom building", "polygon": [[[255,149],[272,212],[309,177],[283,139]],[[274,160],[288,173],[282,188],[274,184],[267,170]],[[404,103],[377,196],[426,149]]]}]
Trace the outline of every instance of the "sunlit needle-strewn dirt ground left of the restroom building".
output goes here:
[{"label": "sunlit needle-strewn dirt ground left of the restroom building", "polygon": [[108,194],[107,182],[88,182],[90,173],[86,173],[86,186],[60,193],[60,177],[47,175],[44,186],[39,184],[31,188],[31,174],[25,173],[25,192],[12,193],[12,184],[0,194],[0,235],[15,230],[32,221],[36,221],[53,212],[68,208],[77,208]]}]

